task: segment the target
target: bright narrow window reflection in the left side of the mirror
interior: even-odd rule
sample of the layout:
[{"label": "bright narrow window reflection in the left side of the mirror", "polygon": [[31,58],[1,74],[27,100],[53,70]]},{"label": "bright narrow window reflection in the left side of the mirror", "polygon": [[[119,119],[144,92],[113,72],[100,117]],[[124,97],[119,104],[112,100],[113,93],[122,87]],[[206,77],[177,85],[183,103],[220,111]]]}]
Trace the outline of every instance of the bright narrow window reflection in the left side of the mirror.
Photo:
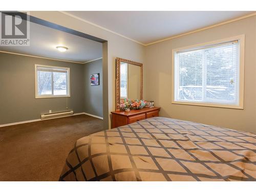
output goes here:
[{"label": "bright narrow window reflection in the left side of the mirror", "polygon": [[120,63],[120,98],[127,98],[127,77],[128,65],[125,62]]}]

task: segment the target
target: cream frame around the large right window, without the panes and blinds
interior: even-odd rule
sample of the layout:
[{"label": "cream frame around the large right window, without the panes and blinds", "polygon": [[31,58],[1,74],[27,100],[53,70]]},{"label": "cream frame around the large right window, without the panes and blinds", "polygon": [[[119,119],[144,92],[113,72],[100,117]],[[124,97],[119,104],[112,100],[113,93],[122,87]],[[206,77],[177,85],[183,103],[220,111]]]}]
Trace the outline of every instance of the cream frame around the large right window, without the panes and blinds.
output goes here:
[{"label": "cream frame around the large right window, without the panes and blinds", "polygon": [[[218,44],[224,44],[229,41],[239,41],[239,103],[238,104],[221,104],[212,102],[197,102],[197,101],[177,101],[175,100],[176,93],[176,53],[180,51],[188,51],[193,49],[198,49],[202,47],[214,46]],[[177,48],[172,50],[172,103],[173,104],[185,104],[185,105],[197,105],[197,106],[210,106],[216,108],[230,108],[230,109],[244,109],[244,50],[245,50],[245,35],[238,35],[229,38],[219,39],[215,41],[204,42],[202,44],[196,44],[191,46],[186,46],[182,48]]]}]

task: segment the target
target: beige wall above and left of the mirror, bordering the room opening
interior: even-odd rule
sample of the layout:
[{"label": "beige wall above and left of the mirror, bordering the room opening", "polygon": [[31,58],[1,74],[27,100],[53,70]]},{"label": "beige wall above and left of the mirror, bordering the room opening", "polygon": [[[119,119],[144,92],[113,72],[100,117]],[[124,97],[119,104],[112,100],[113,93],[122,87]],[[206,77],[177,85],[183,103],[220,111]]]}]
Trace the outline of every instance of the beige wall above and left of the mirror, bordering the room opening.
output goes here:
[{"label": "beige wall above and left of the mirror, bordering the room opening", "polygon": [[[107,43],[103,44],[103,48],[108,46],[108,52],[104,53],[103,51],[103,108],[108,110],[103,111],[103,118],[109,119],[108,123],[110,127],[110,112],[115,110],[115,58],[121,57],[143,63],[144,46],[58,11],[30,11],[30,15],[108,40]],[[104,55],[108,57],[108,66],[105,66]],[[108,74],[108,81],[104,80],[104,75],[106,74]],[[104,85],[106,82],[108,84]],[[108,88],[107,95],[105,94],[105,88]],[[105,101],[106,99],[107,101]],[[108,109],[104,107],[106,102]],[[107,126],[105,123],[104,125]]]}]

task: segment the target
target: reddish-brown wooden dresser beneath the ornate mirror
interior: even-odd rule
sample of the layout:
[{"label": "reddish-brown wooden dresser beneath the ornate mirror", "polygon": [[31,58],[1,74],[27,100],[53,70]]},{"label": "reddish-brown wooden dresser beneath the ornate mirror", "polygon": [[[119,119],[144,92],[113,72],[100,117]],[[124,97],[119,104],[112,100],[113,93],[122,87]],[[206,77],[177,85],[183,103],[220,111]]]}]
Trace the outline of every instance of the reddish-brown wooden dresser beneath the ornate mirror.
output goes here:
[{"label": "reddish-brown wooden dresser beneath the ornate mirror", "polygon": [[143,108],[141,110],[131,110],[130,112],[113,111],[111,128],[123,126],[126,124],[134,123],[146,118],[158,117],[160,108]]}]

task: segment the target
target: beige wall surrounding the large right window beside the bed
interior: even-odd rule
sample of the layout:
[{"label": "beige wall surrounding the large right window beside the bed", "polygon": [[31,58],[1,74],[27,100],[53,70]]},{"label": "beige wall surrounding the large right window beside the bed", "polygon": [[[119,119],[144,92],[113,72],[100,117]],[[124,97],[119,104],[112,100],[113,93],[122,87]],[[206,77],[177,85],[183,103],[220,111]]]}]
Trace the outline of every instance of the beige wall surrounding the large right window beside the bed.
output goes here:
[{"label": "beige wall surrounding the large right window beside the bed", "polygon": [[[172,49],[245,34],[244,110],[171,103]],[[147,46],[145,99],[161,106],[160,115],[230,129],[256,132],[256,16]]]}]

